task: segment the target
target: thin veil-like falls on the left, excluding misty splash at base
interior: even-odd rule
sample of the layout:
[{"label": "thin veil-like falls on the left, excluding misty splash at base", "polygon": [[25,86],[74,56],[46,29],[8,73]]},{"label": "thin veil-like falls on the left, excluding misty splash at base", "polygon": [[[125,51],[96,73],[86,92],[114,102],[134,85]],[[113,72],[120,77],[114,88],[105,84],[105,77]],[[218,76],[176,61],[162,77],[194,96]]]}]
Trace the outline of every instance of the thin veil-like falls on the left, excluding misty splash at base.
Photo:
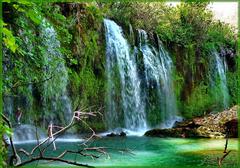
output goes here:
[{"label": "thin veil-like falls on the left, excluding misty splash at base", "polygon": [[[28,22],[22,24],[26,26]],[[39,36],[36,38],[30,36],[35,32],[38,32]],[[36,121],[34,114],[39,115],[39,113],[42,114],[39,119],[43,122],[43,127],[47,127],[50,121],[58,125],[66,124],[72,117],[72,107],[67,93],[68,73],[64,57],[60,52],[57,33],[53,26],[46,19],[43,19],[37,29],[25,29],[21,25],[18,34],[23,42],[22,47],[25,47],[25,58],[36,57],[38,61],[36,65],[31,62],[32,60],[29,61],[29,67],[26,61],[23,74],[25,73],[27,84],[16,88],[14,94],[10,90],[8,94],[4,95],[4,113],[13,124],[15,124],[18,107],[23,113],[21,117],[22,124],[34,124]],[[39,46],[39,51],[34,50],[34,45]],[[4,79],[6,79],[4,87],[11,88],[13,85],[8,82],[10,79],[7,76],[14,67],[11,63],[11,59],[13,59],[11,57],[13,56],[7,49],[4,49]],[[31,75],[28,76],[31,68],[39,69],[36,75],[39,82],[35,83],[35,79]],[[34,94],[39,95],[35,96]]]}]

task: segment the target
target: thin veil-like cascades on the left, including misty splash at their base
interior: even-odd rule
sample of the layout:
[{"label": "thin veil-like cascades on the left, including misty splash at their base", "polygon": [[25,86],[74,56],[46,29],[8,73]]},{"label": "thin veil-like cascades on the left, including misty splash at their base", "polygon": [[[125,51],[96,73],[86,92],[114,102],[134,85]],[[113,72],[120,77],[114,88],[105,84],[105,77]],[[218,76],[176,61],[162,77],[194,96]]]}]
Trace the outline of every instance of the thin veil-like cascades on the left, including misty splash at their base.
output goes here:
[{"label": "thin veil-like cascades on the left, including misty splash at their base", "polygon": [[[25,24],[28,24],[27,22]],[[39,36],[34,39],[29,37],[29,31],[32,33],[38,32]],[[23,85],[25,92],[17,90],[16,95],[4,95],[4,113],[10,118],[14,128],[14,139],[21,140],[34,140],[35,138],[35,122],[34,113],[40,111],[42,113],[41,126],[47,127],[50,122],[55,125],[64,125],[70,121],[72,117],[71,102],[67,95],[68,74],[65,67],[63,55],[60,52],[60,42],[57,40],[57,33],[53,26],[43,19],[39,29],[27,30],[19,29],[19,36],[26,46],[26,57],[31,57],[36,54],[33,52],[33,44],[38,44],[41,47],[39,53],[39,66],[42,71],[42,81],[40,83],[32,83],[31,77],[29,78],[28,85]],[[31,40],[30,40],[31,39]],[[6,49],[5,49],[6,50]],[[4,73],[7,74],[12,69],[11,62],[9,61],[8,53],[4,53]],[[8,80],[8,77],[5,76]],[[41,79],[39,79],[41,81]],[[12,85],[10,83],[10,85]],[[10,86],[11,87],[11,86]],[[20,89],[21,90],[21,89]],[[33,90],[40,93],[41,103],[33,95]],[[34,104],[35,101],[35,104]],[[39,103],[36,105],[36,103]],[[21,125],[16,125],[16,111],[21,107],[22,117]],[[37,107],[37,108],[36,108]],[[36,110],[36,111],[34,111]]]}]

